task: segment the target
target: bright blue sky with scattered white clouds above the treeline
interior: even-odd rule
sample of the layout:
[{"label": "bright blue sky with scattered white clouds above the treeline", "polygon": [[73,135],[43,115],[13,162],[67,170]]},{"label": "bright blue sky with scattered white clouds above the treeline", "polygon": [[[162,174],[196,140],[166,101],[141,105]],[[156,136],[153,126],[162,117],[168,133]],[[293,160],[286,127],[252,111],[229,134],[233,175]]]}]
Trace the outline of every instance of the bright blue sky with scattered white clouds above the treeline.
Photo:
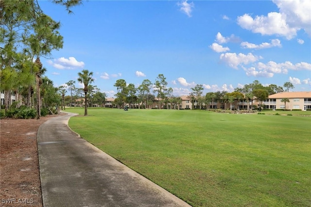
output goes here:
[{"label": "bright blue sky with scattered white clouds above the treeline", "polygon": [[93,71],[108,97],[118,79],[139,86],[163,74],[174,95],[232,92],[254,80],[311,90],[311,1],[89,0],[74,7],[40,1],[61,21],[63,49],[41,62],[54,86]]}]

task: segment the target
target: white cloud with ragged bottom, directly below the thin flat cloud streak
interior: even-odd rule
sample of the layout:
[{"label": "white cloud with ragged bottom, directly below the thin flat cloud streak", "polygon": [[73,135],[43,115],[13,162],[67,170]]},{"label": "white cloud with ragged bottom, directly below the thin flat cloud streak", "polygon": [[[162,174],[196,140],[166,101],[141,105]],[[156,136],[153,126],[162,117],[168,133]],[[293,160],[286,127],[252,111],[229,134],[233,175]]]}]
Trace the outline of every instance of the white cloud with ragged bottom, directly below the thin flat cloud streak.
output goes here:
[{"label": "white cloud with ragged bottom, directly below the thin flat cloud streak", "polygon": [[243,53],[236,54],[227,52],[220,55],[220,60],[234,69],[238,69],[238,66],[242,64],[247,65],[256,62],[259,58],[261,57],[257,57],[252,53],[245,55]]}]

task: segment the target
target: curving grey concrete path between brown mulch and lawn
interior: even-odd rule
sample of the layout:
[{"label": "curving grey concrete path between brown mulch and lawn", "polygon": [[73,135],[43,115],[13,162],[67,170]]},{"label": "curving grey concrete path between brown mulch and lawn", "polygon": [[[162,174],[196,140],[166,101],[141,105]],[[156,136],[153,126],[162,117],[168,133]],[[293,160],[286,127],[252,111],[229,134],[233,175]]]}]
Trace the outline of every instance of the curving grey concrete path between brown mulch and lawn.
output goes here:
[{"label": "curving grey concrete path between brown mulch and lawn", "polygon": [[52,118],[37,133],[44,207],[190,207]]}]

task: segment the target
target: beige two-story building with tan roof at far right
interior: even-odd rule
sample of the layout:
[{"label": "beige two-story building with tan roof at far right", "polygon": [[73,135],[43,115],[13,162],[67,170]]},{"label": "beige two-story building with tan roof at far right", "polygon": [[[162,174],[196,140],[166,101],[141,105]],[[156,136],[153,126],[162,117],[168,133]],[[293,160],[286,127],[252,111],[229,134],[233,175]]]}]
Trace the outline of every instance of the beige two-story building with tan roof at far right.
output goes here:
[{"label": "beige two-story building with tan roof at far right", "polygon": [[311,91],[272,94],[263,104],[267,109],[285,109],[285,103],[281,102],[281,100],[285,98],[289,99],[289,102],[286,103],[287,110],[311,110]]}]

